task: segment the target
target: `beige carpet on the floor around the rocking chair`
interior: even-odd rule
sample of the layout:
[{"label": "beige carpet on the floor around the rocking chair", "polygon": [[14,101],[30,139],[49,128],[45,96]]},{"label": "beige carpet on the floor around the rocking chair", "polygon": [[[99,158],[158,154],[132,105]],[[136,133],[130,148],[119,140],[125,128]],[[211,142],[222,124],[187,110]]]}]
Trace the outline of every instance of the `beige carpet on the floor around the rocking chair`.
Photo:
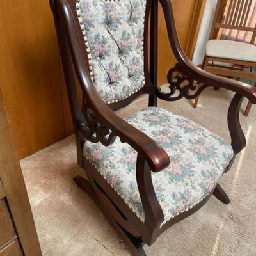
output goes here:
[{"label": "beige carpet on the floor around the rocking chair", "polygon": [[[229,140],[227,108],[233,93],[208,88],[198,109],[186,99],[159,106],[186,116]],[[247,101],[244,102],[243,108]],[[120,111],[126,116],[147,106],[140,98]],[[150,248],[148,256],[251,256],[256,255],[256,108],[241,116],[248,145],[221,185],[230,196],[224,205],[212,197],[200,211],[167,230]],[[44,256],[131,255],[90,196],[77,188],[72,177],[76,164],[71,136],[21,161],[36,228]]]}]

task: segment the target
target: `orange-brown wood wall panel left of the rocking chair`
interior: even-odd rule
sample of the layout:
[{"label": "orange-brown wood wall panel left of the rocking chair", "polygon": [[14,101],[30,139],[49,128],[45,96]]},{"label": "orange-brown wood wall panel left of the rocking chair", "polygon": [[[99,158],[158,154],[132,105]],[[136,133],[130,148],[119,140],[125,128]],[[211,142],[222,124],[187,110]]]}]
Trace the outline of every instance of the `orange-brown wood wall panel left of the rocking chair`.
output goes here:
[{"label": "orange-brown wood wall panel left of the rocking chair", "polygon": [[0,88],[22,158],[64,137],[49,1],[0,1],[0,31]]}]

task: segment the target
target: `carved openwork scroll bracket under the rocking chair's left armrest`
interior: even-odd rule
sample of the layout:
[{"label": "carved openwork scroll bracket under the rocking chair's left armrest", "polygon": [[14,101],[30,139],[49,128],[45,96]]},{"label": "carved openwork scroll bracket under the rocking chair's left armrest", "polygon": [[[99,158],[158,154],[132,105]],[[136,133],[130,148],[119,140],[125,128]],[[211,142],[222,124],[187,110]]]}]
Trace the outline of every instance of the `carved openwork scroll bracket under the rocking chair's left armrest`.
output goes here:
[{"label": "carved openwork scroll bracket under the rocking chair's left armrest", "polygon": [[83,134],[86,140],[92,143],[102,143],[104,146],[109,146],[116,139],[115,132],[111,131],[97,118],[92,109],[83,107],[85,122],[79,123],[79,131]]}]

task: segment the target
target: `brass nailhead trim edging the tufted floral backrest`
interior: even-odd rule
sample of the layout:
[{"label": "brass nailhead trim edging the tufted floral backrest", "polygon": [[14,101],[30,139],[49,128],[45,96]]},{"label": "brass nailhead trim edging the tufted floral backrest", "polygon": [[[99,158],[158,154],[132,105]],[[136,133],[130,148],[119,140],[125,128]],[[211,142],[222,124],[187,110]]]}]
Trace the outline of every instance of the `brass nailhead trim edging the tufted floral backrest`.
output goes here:
[{"label": "brass nailhead trim edging the tufted floral backrest", "polygon": [[[77,18],[79,20],[79,24],[80,24],[80,27],[81,27],[81,30],[82,30],[82,33],[83,33],[83,38],[84,38],[84,44],[85,44],[85,47],[86,47],[86,52],[87,52],[87,56],[88,56],[88,62],[89,62],[89,66],[92,67],[92,56],[91,56],[91,51],[90,51],[90,45],[88,44],[88,38],[87,38],[87,35],[86,35],[86,32],[85,32],[85,28],[84,28],[84,23],[83,23],[83,19],[81,17],[81,10],[80,10],[80,6],[79,6],[79,3],[80,3],[81,0],[77,0],[77,3],[76,3],[76,10],[77,10]],[[119,2],[120,0],[102,0],[104,2]],[[144,6],[146,6],[146,1],[147,0],[144,0],[145,3],[144,3]],[[143,26],[145,25],[145,12],[146,12],[146,8],[145,8],[145,11],[143,13],[143,20],[144,20],[144,23],[143,23]],[[141,51],[142,51],[142,56],[144,58],[144,38],[142,38],[142,46],[141,46]],[[94,84],[94,73],[93,73],[93,69],[90,68],[90,77],[92,79],[92,82]],[[144,74],[144,70],[143,70],[143,77],[145,77],[145,74]],[[140,88],[134,90],[133,92],[129,93],[129,95],[121,98],[121,99],[116,99],[116,100],[109,100],[106,102],[106,104],[111,104],[111,103],[115,103],[115,102],[119,102],[121,100],[124,100],[124,99],[127,99],[129,98],[131,95],[133,95],[134,93],[138,92],[141,88],[143,88],[143,86],[145,86],[145,80],[143,81],[143,85],[140,86]]]}]

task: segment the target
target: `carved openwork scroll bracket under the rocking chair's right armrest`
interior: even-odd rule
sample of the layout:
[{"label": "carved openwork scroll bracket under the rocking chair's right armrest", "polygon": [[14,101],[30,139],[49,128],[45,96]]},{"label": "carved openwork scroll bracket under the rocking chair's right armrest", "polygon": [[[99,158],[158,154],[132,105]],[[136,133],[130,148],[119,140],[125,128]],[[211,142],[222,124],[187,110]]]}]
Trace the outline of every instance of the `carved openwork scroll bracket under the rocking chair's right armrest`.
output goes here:
[{"label": "carved openwork scroll bracket under the rocking chair's right armrest", "polygon": [[200,93],[211,84],[200,84],[193,77],[187,76],[179,63],[171,68],[167,75],[170,92],[163,92],[161,88],[156,88],[156,95],[159,99],[167,101],[195,99]]}]

